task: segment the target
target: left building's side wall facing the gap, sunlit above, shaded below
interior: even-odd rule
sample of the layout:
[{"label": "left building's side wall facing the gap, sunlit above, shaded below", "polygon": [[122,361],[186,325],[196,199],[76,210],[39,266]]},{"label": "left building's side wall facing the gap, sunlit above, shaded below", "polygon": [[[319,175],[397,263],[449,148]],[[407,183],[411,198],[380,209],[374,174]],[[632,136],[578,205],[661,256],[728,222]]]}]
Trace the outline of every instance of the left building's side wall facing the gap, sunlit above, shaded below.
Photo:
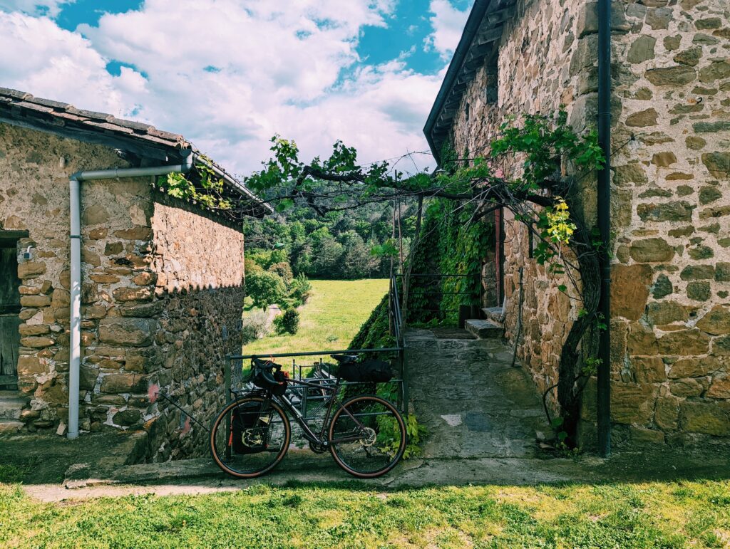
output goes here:
[{"label": "left building's side wall facing the gap, sunlit above, shaded below", "polygon": [[[161,310],[155,343],[162,364],[150,383],[210,425],[228,397],[226,354],[241,351],[243,235],[162,203],[155,203],[152,227],[153,306]],[[156,461],[207,451],[207,432],[169,403],[158,400],[149,413],[155,415],[148,428]]]}]

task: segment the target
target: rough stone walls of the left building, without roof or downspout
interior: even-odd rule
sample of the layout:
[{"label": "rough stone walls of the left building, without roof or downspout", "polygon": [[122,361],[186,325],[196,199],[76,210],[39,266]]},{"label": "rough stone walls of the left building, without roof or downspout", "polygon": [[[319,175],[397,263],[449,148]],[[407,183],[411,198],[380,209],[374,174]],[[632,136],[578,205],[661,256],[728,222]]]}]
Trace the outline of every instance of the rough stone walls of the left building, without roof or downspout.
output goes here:
[{"label": "rough stone walls of the left building, without roof or downspout", "polygon": [[[30,260],[18,256],[25,431],[68,415],[69,175],[126,166],[110,147],[0,123],[0,230],[27,230],[18,247],[33,246]],[[223,402],[224,357],[239,349],[243,235],[151,183],[82,183],[80,428],[147,429],[150,457],[167,459],[194,453],[204,435],[150,402],[150,386],[201,421]]]}]

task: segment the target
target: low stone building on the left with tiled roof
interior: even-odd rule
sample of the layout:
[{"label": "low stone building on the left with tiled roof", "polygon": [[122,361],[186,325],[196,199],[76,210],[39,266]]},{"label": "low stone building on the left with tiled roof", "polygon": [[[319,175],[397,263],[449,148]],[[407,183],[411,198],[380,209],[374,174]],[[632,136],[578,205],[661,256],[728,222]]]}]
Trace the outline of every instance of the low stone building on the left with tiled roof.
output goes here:
[{"label": "low stone building on the left with tiled roof", "polygon": [[[204,171],[237,206],[172,198],[164,174],[128,168],[193,183]],[[201,421],[225,398],[224,357],[240,349],[239,221],[269,211],[183,136],[0,88],[0,432],[73,437],[78,402],[81,432],[144,428],[150,458],[191,453],[204,434],[155,391]]]}]

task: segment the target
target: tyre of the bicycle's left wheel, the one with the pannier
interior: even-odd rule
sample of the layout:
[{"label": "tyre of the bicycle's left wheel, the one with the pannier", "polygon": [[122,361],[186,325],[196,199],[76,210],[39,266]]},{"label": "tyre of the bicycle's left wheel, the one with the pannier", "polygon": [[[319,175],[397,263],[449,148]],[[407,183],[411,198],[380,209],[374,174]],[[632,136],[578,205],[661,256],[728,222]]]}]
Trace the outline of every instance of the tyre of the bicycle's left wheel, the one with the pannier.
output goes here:
[{"label": "tyre of the bicycle's left wheel, the one with the pannier", "polygon": [[[255,462],[263,463],[262,467],[255,467],[254,470],[237,470],[234,468],[234,463],[232,462],[232,456],[233,451],[231,451],[231,440],[233,437],[233,431],[229,430],[229,432],[226,432],[226,427],[224,425],[224,420],[228,416],[229,413],[232,413],[233,410],[241,407],[242,405],[245,405],[246,402],[266,402],[268,400],[270,409],[273,410],[274,413],[276,413],[280,419],[281,424],[283,427],[283,440],[281,440],[281,448],[277,451],[276,455],[274,456],[274,459],[271,462],[268,462],[266,459],[258,459],[255,460],[252,458],[252,460]],[[269,419],[269,425],[272,424],[273,421]],[[220,429],[223,429],[221,432]],[[268,435],[268,429],[270,427],[267,427],[267,435]],[[221,442],[223,441],[223,442]],[[286,452],[289,449],[289,443],[291,442],[291,423],[289,421],[289,418],[286,416],[286,413],[284,412],[283,408],[281,408],[280,405],[277,404],[274,400],[266,399],[265,397],[244,397],[241,399],[233,400],[231,402],[228,402],[226,406],[223,408],[223,410],[220,410],[220,413],[218,413],[218,416],[215,418],[212,424],[212,428],[210,429],[210,451],[213,456],[213,461],[215,464],[220,467],[220,470],[223,470],[223,472],[226,472],[228,475],[231,475],[235,478],[256,478],[260,477],[261,475],[265,475],[267,472],[271,471],[276,467],[280,462],[284,459],[284,456],[286,455]],[[220,450],[225,450],[226,446],[229,448],[229,453],[231,453],[231,458],[228,458],[228,456],[221,456]],[[245,454],[247,456],[265,456],[266,453],[272,453],[271,451],[262,451],[258,453],[249,453]],[[240,454],[237,454],[240,455]],[[239,458],[241,461],[243,458]]]}]

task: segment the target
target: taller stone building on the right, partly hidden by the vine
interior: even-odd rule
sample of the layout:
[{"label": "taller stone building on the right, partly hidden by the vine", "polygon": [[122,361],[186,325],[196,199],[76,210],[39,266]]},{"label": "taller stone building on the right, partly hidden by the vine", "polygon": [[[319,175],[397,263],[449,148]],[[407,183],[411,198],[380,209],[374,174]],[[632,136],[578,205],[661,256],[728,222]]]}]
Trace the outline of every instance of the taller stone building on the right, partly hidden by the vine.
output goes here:
[{"label": "taller stone building on the right, partly hidden by the vine", "polygon": [[[730,9],[726,0],[612,1],[611,423],[614,444],[730,437]],[[583,0],[476,0],[426,124],[434,155],[485,155],[508,115],[561,105],[596,126],[598,16]],[[596,222],[596,178],[580,182]],[[497,217],[505,334],[542,394],[578,311]],[[491,303],[502,305],[502,298]],[[595,436],[596,385],[583,394]],[[553,400],[553,405],[555,401]]]}]

